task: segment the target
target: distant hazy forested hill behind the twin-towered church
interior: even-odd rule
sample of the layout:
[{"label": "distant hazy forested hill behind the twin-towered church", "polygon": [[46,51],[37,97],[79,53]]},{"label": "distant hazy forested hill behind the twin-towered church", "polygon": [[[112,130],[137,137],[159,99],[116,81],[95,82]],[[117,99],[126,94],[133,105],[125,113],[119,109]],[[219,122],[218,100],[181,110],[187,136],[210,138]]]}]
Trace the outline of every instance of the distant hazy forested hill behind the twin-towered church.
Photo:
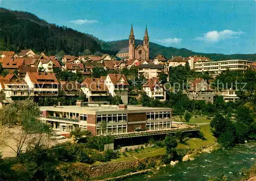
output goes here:
[{"label": "distant hazy forested hill behind the twin-towered church", "polygon": [[[118,52],[120,49],[128,47],[128,40],[119,40],[119,41],[109,41],[100,43],[101,48],[103,50],[111,50]],[[139,44],[143,44],[143,40],[135,40],[136,46]],[[201,55],[207,56],[212,60],[229,60],[229,59],[243,59],[243,60],[251,60],[256,61],[256,54],[232,54],[232,55],[225,55],[225,54],[208,54],[208,53],[198,53],[193,52],[187,49],[177,49],[174,47],[164,47],[160,44],[150,42],[150,58],[155,58],[158,54],[165,55],[166,58],[172,58],[172,56],[183,56],[189,57],[192,55]]]}]

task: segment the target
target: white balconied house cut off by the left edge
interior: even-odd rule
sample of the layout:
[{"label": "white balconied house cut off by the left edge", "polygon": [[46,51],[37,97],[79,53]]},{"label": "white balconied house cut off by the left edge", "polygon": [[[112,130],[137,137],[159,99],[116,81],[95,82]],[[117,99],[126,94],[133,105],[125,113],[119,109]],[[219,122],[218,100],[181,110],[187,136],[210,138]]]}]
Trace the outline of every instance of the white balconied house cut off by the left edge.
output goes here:
[{"label": "white balconied house cut off by the left edge", "polygon": [[5,100],[9,103],[24,100],[31,95],[28,84],[15,74],[0,78],[0,90],[4,92]]}]

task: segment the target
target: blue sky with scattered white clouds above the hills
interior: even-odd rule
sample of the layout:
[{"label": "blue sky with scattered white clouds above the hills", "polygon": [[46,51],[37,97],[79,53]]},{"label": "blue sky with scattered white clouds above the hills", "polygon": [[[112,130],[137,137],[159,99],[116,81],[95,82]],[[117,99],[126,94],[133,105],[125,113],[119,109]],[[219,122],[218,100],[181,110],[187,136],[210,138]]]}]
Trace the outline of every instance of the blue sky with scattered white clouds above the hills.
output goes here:
[{"label": "blue sky with scattered white clouds above the hills", "polygon": [[[104,41],[136,39],[145,26],[151,42],[202,53],[256,53],[256,0],[0,0],[0,7]],[[1,25],[0,25],[1,28]]]}]

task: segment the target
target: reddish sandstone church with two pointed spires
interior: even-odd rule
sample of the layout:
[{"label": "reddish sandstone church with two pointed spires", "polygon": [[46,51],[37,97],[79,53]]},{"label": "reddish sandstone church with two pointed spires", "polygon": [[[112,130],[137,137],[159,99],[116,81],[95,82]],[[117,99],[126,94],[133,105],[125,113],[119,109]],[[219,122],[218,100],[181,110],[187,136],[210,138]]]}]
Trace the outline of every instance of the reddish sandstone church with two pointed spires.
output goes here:
[{"label": "reddish sandstone church with two pointed spires", "polygon": [[121,59],[137,59],[148,60],[150,57],[150,38],[148,37],[147,27],[143,38],[143,46],[140,44],[135,47],[135,36],[133,32],[133,25],[129,36],[129,47],[121,49],[117,55]]}]

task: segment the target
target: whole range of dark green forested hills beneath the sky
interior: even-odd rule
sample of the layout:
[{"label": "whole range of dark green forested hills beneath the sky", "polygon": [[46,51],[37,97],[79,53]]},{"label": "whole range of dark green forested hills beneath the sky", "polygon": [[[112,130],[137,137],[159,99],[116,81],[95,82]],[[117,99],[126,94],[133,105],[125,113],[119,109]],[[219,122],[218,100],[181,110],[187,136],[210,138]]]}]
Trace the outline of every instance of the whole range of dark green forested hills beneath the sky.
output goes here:
[{"label": "whole range of dark green forested hills beneath the sky", "polygon": [[[120,49],[128,47],[128,40],[104,42],[92,35],[81,33],[68,27],[60,27],[49,24],[32,13],[23,11],[11,11],[0,8],[0,51],[19,52],[23,49],[32,49],[40,53],[55,55],[59,51],[66,54],[82,55],[84,50],[115,55]],[[143,44],[142,40],[136,40],[136,45]],[[206,54],[193,52],[187,49],[164,47],[157,43],[150,43],[150,58],[158,54],[166,58],[172,56],[207,56],[212,60],[244,59],[256,61],[256,54]]]}]

